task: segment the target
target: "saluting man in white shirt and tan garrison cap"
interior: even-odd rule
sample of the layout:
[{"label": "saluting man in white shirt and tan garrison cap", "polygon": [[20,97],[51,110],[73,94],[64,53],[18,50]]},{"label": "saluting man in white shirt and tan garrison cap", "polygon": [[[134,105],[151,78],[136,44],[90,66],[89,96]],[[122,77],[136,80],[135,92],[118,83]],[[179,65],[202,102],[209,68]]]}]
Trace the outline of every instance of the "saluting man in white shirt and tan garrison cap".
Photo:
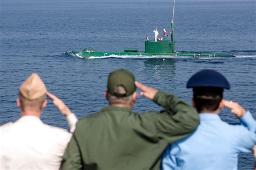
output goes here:
[{"label": "saluting man in white shirt and tan garrison cap", "polygon": [[33,73],[19,88],[17,105],[21,108],[21,118],[0,126],[0,169],[59,169],[72,133],[41,121],[46,96],[66,116],[70,131],[75,130],[75,114],[62,100],[47,92],[43,81]]}]

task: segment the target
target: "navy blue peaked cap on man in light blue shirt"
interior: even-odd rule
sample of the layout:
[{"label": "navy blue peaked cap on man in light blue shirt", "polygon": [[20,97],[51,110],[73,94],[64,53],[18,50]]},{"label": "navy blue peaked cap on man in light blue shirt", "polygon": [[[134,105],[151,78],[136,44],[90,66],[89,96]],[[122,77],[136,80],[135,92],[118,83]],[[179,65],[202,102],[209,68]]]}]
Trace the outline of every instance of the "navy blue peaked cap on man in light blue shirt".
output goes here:
[{"label": "navy blue peaked cap on man in light blue shirt", "polygon": [[212,69],[203,69],[194,74],[187,82],[187,88],[194,87],[217,87],[230,89],[230,83],[220,73]]}]

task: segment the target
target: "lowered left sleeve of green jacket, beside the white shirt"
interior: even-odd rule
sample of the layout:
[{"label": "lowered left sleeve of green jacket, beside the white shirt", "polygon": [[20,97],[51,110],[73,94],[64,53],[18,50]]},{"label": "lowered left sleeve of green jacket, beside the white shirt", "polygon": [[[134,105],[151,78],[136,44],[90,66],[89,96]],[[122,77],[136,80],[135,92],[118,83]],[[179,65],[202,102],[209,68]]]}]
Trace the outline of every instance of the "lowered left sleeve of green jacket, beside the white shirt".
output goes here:
[{"label": "lowered left sleeve of green jacket, beside the white shirt", "polygon": [[82,157],[76,140],[76,131],[65,150],[60,169],[83,169]]}]

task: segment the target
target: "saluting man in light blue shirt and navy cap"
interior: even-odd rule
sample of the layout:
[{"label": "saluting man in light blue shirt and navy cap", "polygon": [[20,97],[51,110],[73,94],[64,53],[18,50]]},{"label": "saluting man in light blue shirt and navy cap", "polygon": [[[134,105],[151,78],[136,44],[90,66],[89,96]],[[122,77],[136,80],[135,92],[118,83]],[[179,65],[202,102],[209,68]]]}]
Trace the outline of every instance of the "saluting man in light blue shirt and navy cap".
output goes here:
[{"label": "saluting man in light blue shirt and navy cap", "polygon": [[[230,89],[230,84],[214,70],[194,74],[187,88],[193,88],[192,105],[199,112],[200,125],[166,148],[161,169],[237,169],[238,154],[252,152],[256,143],[255,119],[238,103],[223,99],[224,88]],[[221,121],[219,112],[224,107],[231,109],[241,125]]]}]

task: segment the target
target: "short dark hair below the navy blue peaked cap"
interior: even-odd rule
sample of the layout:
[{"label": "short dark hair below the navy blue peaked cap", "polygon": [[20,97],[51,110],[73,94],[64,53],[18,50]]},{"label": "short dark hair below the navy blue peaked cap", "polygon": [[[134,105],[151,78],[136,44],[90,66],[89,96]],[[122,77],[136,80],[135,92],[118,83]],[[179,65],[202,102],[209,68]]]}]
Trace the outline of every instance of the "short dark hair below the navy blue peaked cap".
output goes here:
[{"label": "short dark hair below the navy blue peaked cap", "polygon": [[223,99],[223,88],[194,88],[194,103],[197,111],[215,111]]}]

